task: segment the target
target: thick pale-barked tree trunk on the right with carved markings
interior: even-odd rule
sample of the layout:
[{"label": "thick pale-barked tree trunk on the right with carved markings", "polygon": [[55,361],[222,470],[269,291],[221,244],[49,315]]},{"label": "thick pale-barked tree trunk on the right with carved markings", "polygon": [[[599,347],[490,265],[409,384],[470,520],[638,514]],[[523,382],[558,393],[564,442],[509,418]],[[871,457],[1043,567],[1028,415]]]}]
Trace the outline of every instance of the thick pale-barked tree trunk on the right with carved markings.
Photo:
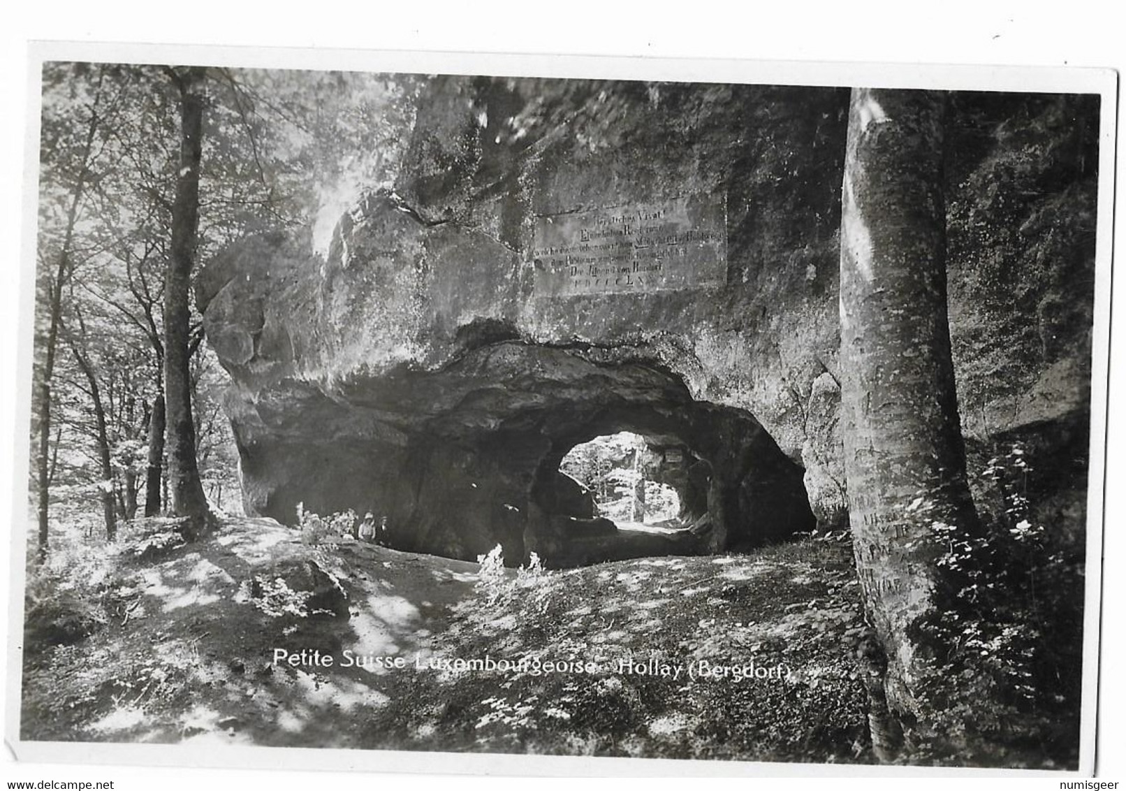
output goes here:
[{"label": "thick pale-barked tree trunk on the right with carved markings", "polygon": [[[855,89],[841,213],[841,406],[849,519],[877,643],[879,757],[930,740],[939,525],[976,527],[946,308],[945,95]],[[872,656],[883,649],[884,656]],[[872,692],[869,686],[869,692]],[[883,699],[882,699],[883,697]]]}]

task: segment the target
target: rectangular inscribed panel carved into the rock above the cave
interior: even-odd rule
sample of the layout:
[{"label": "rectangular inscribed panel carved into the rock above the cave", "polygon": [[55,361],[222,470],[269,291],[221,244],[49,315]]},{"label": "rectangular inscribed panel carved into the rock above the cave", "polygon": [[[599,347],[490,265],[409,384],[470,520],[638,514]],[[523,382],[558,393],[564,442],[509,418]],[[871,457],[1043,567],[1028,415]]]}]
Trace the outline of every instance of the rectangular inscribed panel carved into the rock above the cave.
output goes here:
[{"label": "rectangular inscribed panel carved into the rock above the cave", "polygon": [[536,296],[723,285],[726,208],[690,195],[539,217],[533,258]]}]

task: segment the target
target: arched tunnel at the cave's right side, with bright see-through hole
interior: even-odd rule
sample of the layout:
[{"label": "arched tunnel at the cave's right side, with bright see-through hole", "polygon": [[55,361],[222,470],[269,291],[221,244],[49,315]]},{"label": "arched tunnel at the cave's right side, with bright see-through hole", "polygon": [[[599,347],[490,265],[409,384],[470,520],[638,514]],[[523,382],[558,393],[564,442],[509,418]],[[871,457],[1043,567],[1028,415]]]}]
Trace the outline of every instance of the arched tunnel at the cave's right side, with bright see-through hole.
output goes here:
[{"label": "arched tunnel at the cave's right side, with bright see-through hole", "polygon": [[667,371],[596,370],[581,397],[521,424],[547,441],[526,553],[563,568],[744,552],[815,526],[804,470],[750,412],[696,400]]}]

